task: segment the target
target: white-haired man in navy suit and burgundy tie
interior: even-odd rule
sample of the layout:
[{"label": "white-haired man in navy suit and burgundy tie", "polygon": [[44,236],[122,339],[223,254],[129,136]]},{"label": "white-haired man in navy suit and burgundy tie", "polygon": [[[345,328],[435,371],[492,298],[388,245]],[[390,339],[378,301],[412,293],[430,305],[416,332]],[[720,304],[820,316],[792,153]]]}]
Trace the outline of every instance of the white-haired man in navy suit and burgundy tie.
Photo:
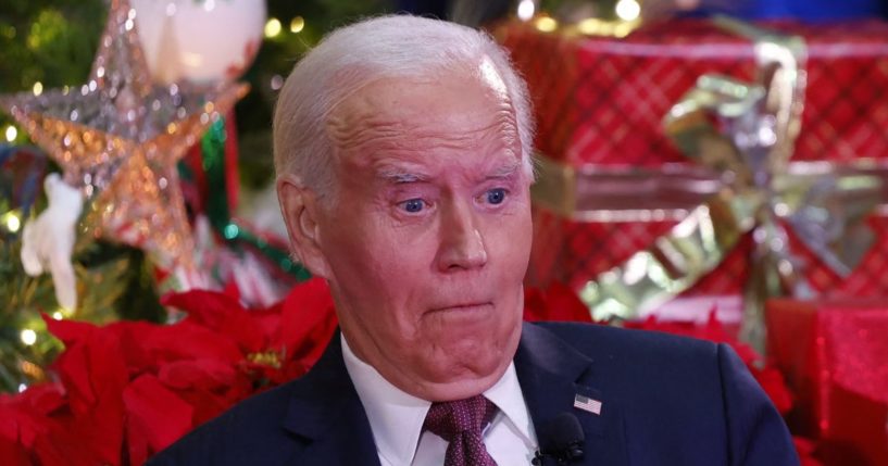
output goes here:
[{"label": "white-haired man in navy suit and burgundy tie", "polygon": [[793,465],[725,345],[522,324],[527,92],[487,36],[379,17],[297,64],[278,194],[341,332],[304,377],[154,459],[180,465]]}]

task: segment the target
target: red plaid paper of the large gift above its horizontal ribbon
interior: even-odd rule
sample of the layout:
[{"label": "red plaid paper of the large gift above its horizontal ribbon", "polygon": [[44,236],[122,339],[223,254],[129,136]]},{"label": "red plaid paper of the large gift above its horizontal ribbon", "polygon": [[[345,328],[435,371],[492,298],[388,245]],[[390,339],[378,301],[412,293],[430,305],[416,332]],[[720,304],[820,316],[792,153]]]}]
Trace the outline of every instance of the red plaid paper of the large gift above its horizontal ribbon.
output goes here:
[{"label": "red plaid paper of the large gift above its horizontal ribbon", "polygon": [[[888,158],[888,23],[767,24],[801,36],[804,113],[793,161]],[[572,165],[684,163],[663,115],[703,74],[753,81],[754,45],[708,20],[642,26],[624,38],[497,30],[530,88],[537,149]]]}]

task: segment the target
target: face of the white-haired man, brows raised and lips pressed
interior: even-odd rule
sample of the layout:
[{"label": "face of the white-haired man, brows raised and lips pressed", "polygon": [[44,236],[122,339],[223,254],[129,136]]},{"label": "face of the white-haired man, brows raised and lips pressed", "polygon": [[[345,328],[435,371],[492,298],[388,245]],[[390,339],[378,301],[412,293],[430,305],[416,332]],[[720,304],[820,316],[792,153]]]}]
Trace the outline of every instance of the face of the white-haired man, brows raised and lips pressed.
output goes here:
[{"label": "face of the white-haired man, brows raised and lips pressed", "polygon": [[530,179],[501,81],[481,71],[374,81],[327,127],[339,187],[317,243],[342,331],[427,400],[492,386],[521,335]]}]

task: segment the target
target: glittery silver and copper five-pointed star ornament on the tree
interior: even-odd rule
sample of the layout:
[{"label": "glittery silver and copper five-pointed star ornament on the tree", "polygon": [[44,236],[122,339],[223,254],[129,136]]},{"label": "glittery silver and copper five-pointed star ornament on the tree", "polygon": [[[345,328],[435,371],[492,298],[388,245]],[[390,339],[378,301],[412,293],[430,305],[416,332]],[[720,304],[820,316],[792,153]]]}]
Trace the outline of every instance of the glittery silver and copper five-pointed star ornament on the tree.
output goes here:
[{"label": "glittery silver and copper five-pointed star ornament on the tree", "polygon": [[91,201],[88,232],[141,248],[163,267],[190,268],[193,240],[176,163],[247,86],[152,84],[135,18],[127,0],[111,0],[87,84],[0,96],[0,108]]}]

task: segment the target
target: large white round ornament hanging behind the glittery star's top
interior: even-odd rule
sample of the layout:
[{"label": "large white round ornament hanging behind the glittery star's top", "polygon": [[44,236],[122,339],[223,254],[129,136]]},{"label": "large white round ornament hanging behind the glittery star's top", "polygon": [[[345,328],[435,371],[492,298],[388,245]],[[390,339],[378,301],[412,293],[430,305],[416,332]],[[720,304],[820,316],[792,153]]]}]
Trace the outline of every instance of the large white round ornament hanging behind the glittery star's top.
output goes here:
[{"label": "large white round ornament hanging behind the glittery star's top", "polygon": [[255,58],[265,0],[132,0],[151,70],[161,84],[237,79]]}]

